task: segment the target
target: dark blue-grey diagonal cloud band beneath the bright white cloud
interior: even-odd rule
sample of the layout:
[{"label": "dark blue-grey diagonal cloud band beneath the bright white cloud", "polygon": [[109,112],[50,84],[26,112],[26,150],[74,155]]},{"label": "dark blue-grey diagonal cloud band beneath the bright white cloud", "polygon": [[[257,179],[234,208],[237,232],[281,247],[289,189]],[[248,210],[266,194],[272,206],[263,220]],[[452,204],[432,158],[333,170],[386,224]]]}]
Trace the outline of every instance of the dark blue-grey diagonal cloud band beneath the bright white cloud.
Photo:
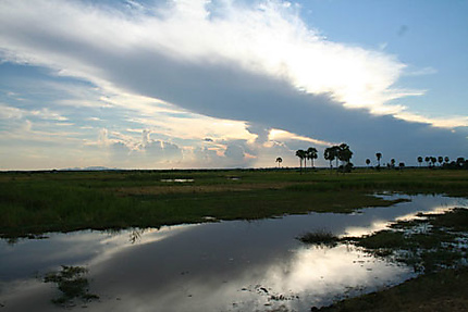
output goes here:
[{"label": "dark blue-grey diagonal cloud band beneath the bright white cloud", "polygon": [[181,62],[150,53],[107,59],[100,65],[107,79],[130,91],[195,113],[261,125],[263,130],[280,128],[315,139],[345,141],[361,159],[375,151],[412,161],[419,154],[456,157],[468,150],[466,128],[453,133],[391,115],[372,115],[365,109],[346,109],[331,95],[305,93],[286,80],[227,62]]}]

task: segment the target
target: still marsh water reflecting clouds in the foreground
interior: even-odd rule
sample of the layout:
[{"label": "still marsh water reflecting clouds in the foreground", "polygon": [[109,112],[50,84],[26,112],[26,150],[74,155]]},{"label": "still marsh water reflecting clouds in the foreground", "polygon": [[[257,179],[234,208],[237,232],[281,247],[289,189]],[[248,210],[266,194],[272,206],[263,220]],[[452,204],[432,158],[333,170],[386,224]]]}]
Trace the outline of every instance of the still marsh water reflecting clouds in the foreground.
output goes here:
[{"label": "still marsh water reflecting clouds in the foreground", "polygon": [[[386,196],[395,198],[395,196]],[[310,311],[345,296],[414,275],[352,246],[306,246],[306,232],[359,236],[417,212],[467,207],[464,199],[398,196],[410,201],[353,214],[310,213],[159,229],[83,230],[0,241],[0,311],[60,311],[44,276],[61,265],[88,270],[99,300],[81,311]]]}]

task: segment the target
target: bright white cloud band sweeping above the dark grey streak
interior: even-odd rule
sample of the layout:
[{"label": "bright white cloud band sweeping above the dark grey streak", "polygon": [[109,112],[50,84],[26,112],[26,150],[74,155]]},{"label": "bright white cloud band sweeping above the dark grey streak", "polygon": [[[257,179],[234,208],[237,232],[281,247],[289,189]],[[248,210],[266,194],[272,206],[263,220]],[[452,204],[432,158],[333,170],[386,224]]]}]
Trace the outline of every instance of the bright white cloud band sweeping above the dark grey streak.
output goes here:
[{"label": "bright white cloud band sweeping above the dark grey streak", "polygon": [[[392,55],[324,40],[307,28],[296,9],[281,2],[246,8],[226,1],[214,16],[207,1],[173,3],[160,9],[161,17],[83,2],[4,1],[0,43],[7,59],[51,66],[101,85],[131,87],[113,79],[119,73],[110,67],[127,71],[135,62],[137,67],[148,65],[151,73],[146,77],[170,79],[178,74],[158,66],[162,59],[196,66],[233,63],[307,92],[330,92],[350,107],[382,105],[405,66]],[[146,78],[137,74],[131,70],[128,76]]]}]

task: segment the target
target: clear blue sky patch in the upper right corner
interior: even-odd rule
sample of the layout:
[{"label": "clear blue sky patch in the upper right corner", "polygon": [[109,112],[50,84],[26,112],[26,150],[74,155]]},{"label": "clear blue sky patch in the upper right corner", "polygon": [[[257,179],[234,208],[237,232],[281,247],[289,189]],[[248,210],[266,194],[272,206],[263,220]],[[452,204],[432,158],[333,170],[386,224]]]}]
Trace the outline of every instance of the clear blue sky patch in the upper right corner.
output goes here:
[{"label": "clear blue sky patch in the upper right corner", "polygon": [[[401,100],[411,109],[432,117],[466,115],[468,1],[312,0],[301,7],[301,16],[330,40],[382,49],[407,64],[397,84],[428,90],[423,99]],[[442,109],[444,102],[449,105]]]}]

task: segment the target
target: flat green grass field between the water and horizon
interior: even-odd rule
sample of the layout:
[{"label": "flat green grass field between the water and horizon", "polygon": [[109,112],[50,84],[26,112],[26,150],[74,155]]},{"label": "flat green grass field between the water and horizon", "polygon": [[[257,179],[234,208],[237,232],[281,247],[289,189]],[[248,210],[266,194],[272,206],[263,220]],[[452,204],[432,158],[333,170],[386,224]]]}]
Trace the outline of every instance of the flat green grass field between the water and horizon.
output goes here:
[{"label": "flat green grass field between the water and horizon", "polygon": [[110,171],[0,174],[0,235],[347,213],[377,191],[468,197],[468,171]]}]

